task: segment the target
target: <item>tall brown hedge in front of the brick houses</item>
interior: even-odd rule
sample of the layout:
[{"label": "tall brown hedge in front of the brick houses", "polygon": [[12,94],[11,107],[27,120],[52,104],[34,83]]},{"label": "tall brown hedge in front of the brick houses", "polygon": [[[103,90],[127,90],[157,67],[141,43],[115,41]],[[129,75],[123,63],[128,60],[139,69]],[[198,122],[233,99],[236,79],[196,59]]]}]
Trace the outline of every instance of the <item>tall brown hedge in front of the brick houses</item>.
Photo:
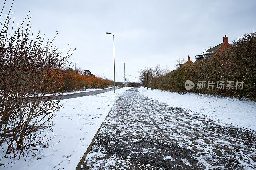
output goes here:
[{"label": "tall brown hedge in front of the brick houses", "polygon": [[[188,92],[185,81],[191,80],[195,87],[190,92],[221,95],[227,97],[246,97],[256,99],[256,32],[243,35],[231,44],[232,47],[221,54],[213,54],[199,62],[185,65],[170,73],[153,79],[153,88]],[[200,81],[205,81],[205,89],[197,88]],[[215,83],[206,89],[209,83]],[[217,88],[217,82],[224,81],[224,89]],[[244,82],[236,89],[236,82]],[[234,83],[234,84],[233,84]],[[229,89],[228,84],[232,84]],[[238,83],[241,85],[241,83]]]}]

